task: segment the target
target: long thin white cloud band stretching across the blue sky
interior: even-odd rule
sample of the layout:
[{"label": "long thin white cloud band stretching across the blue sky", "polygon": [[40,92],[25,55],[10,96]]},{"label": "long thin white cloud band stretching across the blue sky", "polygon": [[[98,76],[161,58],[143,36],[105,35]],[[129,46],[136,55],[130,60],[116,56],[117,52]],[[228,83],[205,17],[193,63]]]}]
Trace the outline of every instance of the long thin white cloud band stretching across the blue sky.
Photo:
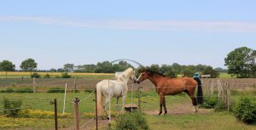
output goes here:
[{"label": "long thin white cloud band stretching across the blue sky", "polygon": [[0,16],[0,21],[36,22],[43,25],[148,31],[256,32],[256,22],[199,20],[71,20],[49,17]]}]

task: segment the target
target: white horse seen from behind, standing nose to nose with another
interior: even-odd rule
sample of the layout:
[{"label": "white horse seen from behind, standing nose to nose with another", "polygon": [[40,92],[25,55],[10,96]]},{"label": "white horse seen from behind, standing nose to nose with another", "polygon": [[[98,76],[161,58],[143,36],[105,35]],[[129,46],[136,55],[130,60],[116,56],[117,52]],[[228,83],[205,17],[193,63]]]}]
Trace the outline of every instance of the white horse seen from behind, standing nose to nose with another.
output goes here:
[{"label": "white horse seen from behind, standing nose to nose with another", "polygon": [[[102,116],[102,111],[105,110],[110,98],[116,97],[116,109],[119,107],[119,97],[122,97],[122,111],[124,111],[125,98],[127,93],[127,83],[131,79],[137,83],[135,71],[132,68],[128,68],[118,76],[117,80],[103,80],[96,84],[96,99],[97,99],[97,115]],[[102,104],[102,95],[105,98],[105,103]],[[110,111],[108,118],[110,118]]]}]

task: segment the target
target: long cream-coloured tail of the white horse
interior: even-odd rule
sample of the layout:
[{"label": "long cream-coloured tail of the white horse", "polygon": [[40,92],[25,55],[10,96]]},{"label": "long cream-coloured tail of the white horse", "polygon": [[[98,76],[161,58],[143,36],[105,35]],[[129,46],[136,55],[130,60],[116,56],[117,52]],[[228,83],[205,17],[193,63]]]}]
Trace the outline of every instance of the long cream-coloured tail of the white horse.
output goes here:
[{"label": "long cream-coloured tail of the white horse", "polygon": [[96,85],[96,105],[97,105],[97,116],[102,116],[102,89],[100,83]]}]

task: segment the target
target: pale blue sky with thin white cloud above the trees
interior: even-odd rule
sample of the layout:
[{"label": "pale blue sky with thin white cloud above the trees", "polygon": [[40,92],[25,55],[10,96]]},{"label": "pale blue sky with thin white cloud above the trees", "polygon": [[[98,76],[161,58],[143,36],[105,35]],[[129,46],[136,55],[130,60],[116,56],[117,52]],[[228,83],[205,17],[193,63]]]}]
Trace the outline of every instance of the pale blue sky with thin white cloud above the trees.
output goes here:
[{"label": "pale blue sky with thin white cloud above the trees", "polygon": [[143,65],[224,67],[234,48],[256,48],[256,1],[1,1],[0,60],[19,69],[133,59]]}]

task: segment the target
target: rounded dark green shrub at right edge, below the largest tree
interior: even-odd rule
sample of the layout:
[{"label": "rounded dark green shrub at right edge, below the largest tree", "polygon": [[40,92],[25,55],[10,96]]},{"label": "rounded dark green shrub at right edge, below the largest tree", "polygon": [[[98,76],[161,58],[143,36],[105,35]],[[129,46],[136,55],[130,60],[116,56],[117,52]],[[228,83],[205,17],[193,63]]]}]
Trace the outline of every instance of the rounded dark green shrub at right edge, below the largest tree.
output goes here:
[{"label": "rounded dark green shrub at right edge, below the largest tree", "polygon": [[256,123],[256,103],[252,98],[241,98],[234,108],[234,114],[238,120],[248,124]]}]

